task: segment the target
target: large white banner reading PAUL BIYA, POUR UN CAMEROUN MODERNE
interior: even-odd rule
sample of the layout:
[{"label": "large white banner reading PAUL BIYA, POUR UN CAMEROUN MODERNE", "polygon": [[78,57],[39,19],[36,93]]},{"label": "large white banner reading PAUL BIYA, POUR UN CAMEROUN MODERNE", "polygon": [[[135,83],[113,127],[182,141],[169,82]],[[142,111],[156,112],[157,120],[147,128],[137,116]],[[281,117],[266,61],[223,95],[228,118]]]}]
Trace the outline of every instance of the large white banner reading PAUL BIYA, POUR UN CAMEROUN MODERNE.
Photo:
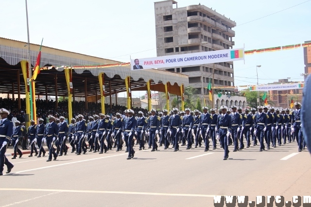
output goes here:
[{"label": "large white banner reading PAUL BIYA, POUR UN CAMEROUN MODERNE", "polygon": [[244,48],[168,55],[156,58],[131,59],[132,70],[179,67],[244,60]]}]

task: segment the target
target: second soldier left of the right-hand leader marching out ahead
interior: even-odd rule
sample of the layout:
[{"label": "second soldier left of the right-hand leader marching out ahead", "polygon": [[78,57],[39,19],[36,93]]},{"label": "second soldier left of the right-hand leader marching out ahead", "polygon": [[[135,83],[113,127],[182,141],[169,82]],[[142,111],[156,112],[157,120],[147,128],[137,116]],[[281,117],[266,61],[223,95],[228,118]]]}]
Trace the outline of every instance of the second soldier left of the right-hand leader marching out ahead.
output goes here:
[{"label": "second soldier left of the right-hand leader marching out ahead", "polygon": [[208,151],[209,149],[209,141],[208,141],[208,131],[209,131],[209,125],[211,122],[210,114],[207,112],[208,108],[207,107],[202,107],[203,113],[200,115],[200,135],[204,139],[205,143],[205,149],[204,151]]}]

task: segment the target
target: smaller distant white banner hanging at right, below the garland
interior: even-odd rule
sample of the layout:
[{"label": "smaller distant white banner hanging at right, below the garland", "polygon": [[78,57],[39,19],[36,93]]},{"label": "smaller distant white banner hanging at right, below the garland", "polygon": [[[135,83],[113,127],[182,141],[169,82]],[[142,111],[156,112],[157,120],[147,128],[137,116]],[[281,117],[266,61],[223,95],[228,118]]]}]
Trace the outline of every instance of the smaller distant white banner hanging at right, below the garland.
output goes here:
[{"label": "smaller distant white banner hanging at right, below the garland", "polygon": [[304,83],[290,83],[290,84],[268,84],[268,85],[255,85],[250,86],[250,91],[280,91],[280,90],[293,90],[303,88]]}]

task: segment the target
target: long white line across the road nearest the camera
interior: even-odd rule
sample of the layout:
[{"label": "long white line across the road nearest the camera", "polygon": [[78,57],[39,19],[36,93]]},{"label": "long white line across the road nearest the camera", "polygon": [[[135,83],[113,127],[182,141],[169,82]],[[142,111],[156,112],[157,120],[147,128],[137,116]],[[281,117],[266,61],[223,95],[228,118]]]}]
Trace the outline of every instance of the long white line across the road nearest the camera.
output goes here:
[{"label": "long white line across the road nearest the camera", "polygon": [[182,193],[160,193],[160,192],[132,192],[132,191],[82,191],[82,190],[57,190],[57,189],[25,189],[25,188],[0,188],[0,191],[47,191],[47,192],[83,192],[83,193],[114,193],[132,195],[166,195],[166,196],[188,196],[188,197],[214,197],[216,195],[205,194],[182,194]]}]

